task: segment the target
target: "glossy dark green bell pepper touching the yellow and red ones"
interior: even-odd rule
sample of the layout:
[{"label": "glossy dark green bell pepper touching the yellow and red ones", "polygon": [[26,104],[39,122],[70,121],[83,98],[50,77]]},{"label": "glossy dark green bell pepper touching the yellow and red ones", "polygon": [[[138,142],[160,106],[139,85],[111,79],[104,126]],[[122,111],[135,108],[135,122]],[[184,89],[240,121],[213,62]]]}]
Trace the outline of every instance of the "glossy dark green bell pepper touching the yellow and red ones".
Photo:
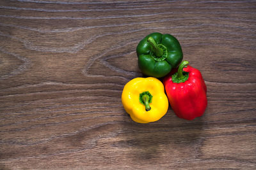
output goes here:
[{"label": "glossy dark green bell pepper touching the yellow and red ones", "polygon": [[170,34],[154,32],[143,38],[136,48],[143,74],[161,78],[177,67],[183,58],[179,41]]}]

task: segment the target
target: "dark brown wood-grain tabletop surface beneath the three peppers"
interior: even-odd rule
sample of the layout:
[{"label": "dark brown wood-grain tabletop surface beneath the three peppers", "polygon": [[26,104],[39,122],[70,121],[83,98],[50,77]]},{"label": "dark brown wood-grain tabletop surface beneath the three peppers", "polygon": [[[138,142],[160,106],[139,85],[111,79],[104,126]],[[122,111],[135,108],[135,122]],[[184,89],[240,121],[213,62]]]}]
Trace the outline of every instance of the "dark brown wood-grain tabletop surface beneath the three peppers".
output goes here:
[{"label": "dark brown wood-grain tabletop surface beneath the three peppers", "polygon": [[[0,169],[256,169],[256,1],[0,1]],[[207,85],[193,121],[137,124],[136,46],[173,34]]]}]

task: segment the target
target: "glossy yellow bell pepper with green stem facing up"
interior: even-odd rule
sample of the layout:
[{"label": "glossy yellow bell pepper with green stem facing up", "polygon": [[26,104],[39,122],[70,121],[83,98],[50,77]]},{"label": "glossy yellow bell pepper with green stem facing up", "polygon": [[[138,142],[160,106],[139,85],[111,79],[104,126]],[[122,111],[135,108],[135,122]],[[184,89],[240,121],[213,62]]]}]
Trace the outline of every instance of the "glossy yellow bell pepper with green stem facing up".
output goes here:
[{"label": "glossy yellow bell pepper with green stem facing up", "polygon": [[134,122],[147,124],[163,117],[168,110],[164,85],[157,78],[134,78],[122,92],[122,104]]}]

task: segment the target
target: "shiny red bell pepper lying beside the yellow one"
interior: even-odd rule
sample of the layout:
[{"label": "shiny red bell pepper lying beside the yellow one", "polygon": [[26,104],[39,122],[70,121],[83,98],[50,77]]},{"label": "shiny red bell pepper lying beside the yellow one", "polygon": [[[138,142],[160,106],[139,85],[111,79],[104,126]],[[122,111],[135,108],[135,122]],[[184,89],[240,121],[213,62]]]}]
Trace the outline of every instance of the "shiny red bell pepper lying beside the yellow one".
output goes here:
[{"label": "shiny red bell pepper lying beside the yellow one", "polygon": [[163,83],[177,117],[193,120],[204,114],[207,88],[200,71],[188,64],[188,61],[183,61],[177,73],[166,76]]}]

